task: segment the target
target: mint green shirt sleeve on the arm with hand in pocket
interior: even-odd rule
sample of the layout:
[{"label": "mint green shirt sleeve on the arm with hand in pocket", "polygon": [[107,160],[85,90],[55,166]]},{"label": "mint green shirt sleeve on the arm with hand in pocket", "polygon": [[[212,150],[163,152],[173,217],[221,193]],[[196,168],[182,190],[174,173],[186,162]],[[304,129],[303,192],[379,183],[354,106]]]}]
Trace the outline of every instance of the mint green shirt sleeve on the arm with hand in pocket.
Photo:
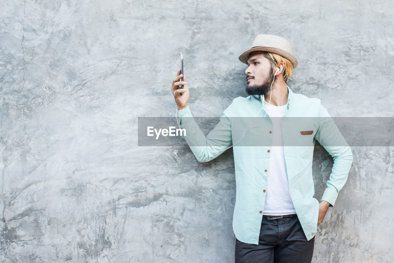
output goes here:
[{"label": "mint green shirt sleeve on the arm with hand in pocket", "polygon": [[322,196],[322,201],[329,202],[330,207],[332,207],[338,197],[338,192],[348,179],[353,162],[353,154],[345,138],[335,125],[333,118],[322,105],[320,105],[319,128],[316,131],[315,138],[334,160],[333,168],[327,181],[327,188]]}]

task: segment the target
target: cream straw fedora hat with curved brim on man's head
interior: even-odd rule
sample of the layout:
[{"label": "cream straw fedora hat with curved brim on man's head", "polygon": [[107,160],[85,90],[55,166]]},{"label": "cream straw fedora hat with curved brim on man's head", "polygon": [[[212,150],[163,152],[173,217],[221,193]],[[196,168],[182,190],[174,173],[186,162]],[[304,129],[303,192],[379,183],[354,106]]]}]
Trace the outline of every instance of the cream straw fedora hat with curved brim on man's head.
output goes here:
[{"label": "cream straw fedora hat with curved brim on man's head", "polygon": [[246,50],[239,56],[242,63],[247,64],[249,54],[253,51],[269,51],[290,60],[293,68],[297,67],[298,61],[293,56],[293,48],[290,42],[277,35],[257,35],[253,41],[252,47]]}]

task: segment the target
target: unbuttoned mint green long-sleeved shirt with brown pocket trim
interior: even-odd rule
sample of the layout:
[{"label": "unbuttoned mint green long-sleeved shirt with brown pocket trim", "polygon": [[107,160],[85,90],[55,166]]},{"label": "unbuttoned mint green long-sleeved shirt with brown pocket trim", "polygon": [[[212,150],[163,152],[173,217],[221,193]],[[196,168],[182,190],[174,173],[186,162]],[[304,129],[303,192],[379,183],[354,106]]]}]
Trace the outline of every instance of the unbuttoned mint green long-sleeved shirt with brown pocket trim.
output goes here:
[{"label": "unbuttoned mint green long-sleeved shirt with brown pocket trim", "polygon": [[[319,215],[319,201],[313,197],[315,141],[318,140],[334,160],[322,196],[331,206],[346,183],[353,155],[320,99],[293,93],[290,88],[288,91],[286,113],[281,123],[286,171],[294,208],[310,240],[316,234]],[[234,144],[236,201],[232,226],[235,237],[249,244],[258,244],[265,197],[270,190],[267,189],[267,175],[272,121],[262,102],[264,96],[258,95],[235,98],[207,136],[199,129],[189,106],[178,110],[179,125],[187,135],[183,137],[199,162],[215,159]],[[255,128],[249,129],[252,127]],[[245,132],[245,129],[249,130]]]}]

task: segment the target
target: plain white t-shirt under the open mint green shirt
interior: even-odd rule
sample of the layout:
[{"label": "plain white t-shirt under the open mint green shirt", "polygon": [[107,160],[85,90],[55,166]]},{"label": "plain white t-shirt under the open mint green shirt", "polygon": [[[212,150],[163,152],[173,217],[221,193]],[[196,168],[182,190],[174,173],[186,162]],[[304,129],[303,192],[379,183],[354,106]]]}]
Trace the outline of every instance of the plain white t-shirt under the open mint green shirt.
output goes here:
[{"label": "plain white t-shirt under the open mint green shirt", "polygon": [[287,104],[273,106],[266,102],[266,105],[267,114],[271,118],[273,127],[263,214],[272,216],[295,214],[296,209],[289,191],[281,127],[281,120],[286,113]]}]

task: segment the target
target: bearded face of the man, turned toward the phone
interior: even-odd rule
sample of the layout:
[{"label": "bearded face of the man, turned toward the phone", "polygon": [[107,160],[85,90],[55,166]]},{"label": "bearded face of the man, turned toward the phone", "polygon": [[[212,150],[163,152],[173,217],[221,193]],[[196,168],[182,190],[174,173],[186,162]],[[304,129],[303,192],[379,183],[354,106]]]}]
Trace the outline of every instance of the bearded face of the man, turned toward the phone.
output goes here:
[{"label": "bearded face of the man, turned toward the phone", "polygon": [[245,91],[248,95],[265,95],[271,88],[273,69],[263,53],[264,51],[253,51],[247,61]]}]

